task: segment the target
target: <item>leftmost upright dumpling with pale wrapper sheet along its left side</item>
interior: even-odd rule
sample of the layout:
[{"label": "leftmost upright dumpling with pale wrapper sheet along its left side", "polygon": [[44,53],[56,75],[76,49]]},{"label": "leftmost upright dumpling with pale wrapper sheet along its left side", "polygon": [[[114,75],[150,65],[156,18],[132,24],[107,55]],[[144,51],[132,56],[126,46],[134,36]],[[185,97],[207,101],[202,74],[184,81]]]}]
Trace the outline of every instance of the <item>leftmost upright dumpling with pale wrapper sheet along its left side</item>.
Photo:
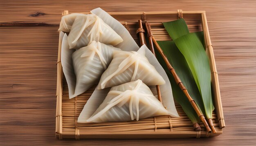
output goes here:
[{"label": "leftmost upright dumpling with pale wrapper sheet along its left side", "polygon": [[120,49],[95,41],[78,50],[69,49],[67,35],[64,35],[61,62],[70,99],[84,93],[99,80],[112,60],[113,50]]}]

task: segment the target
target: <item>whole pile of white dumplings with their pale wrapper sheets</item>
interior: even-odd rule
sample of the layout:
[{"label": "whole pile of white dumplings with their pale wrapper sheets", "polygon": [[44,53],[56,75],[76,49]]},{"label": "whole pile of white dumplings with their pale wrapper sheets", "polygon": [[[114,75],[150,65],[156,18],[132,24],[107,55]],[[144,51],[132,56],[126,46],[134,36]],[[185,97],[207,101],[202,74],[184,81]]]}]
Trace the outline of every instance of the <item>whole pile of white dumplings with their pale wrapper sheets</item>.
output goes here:
[{"label": "whole pile of white dumplings with their pale wrapper sheets", "polygon": [[[61,64],[70,98],[84,93],[100,80],[78,122],[179,116],[162,66],[146,45],[139,49],[126,28],[108,13],[97,8],[92,14],[63,16],[59,30],[70,31],[68,36],[64,35],[61,47]],[[155,86],[150,85],[160,85],[163,103],[157,100]],[[111,91],[107,87],[112,87]]]}]

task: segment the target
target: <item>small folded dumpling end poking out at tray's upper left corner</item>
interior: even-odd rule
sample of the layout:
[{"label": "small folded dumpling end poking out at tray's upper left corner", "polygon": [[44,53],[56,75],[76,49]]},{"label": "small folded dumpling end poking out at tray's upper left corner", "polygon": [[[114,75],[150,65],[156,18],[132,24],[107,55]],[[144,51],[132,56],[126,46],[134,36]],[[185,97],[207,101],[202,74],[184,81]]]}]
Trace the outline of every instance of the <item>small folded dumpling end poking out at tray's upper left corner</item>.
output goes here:
[{"label": "small folded dumpling end poking out at tray's upper left corner", "polygon": [[72,24],[74,23],[74,20],[76,19],[76,16],[79,16],[79,15],[85,15],[85,14],[72,13],[72,14],[62,16],[60,27],[58,30],[64,31],[64,32],[70,32]]}]

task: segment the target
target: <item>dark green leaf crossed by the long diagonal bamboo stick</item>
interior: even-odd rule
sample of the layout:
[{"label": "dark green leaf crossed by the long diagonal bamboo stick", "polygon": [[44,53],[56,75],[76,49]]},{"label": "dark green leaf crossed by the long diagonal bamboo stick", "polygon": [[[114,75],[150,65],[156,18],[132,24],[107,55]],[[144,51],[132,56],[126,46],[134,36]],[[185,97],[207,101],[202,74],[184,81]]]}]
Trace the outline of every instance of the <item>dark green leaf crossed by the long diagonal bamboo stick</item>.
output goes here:
[{"label": "dark green leaf crossed by the long diagonal bamboo stick", "polygon": [[[157,43],[164,51],[164,54],[168,58],[171,65],[175,68],[177,75],[180,77],[180,80],[183,82],[183,84],[188,89],[191,97],[195,97],[195,96],[200,97],[200,93],[195,84],[195,80],[193,79],[193,75],[189,69],[189,66],[186,63],[184,56],[182,55],[182,53],[180,53],[179,49],[175,45],[175,43],[173,41],[157,41]],[[182,106],[182,109],[184,110],[186,115],[188,115],[189,119],[191,119],[191,121],[193,123],[200,122],[200,119],[199,119],[197,113],[191,106],[189,100],[184,95],[184,93],[182,92],[180,87],[176,84],[176,82],[173,78],[173,75],[171,75],[162,56],[159,54],[158,51],[156,51],[156,56],[157,56],[159,63],[165,69],[165,71],[168,75],[168,78],[171,82],[173,97]],[[201,100],[197,101],[197,103],[203,105]]]}]

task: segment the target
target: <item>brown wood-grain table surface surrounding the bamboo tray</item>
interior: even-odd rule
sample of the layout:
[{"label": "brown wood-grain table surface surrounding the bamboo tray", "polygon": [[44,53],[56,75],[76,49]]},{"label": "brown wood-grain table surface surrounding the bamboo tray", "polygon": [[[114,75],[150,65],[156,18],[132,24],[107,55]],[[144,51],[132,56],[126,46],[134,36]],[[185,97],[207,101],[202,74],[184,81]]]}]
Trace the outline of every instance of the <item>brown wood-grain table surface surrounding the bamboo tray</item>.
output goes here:
[{"label": "brown wood-grain table surface surrounding the bamboo tray", "polygon": [[[226,122],[222,135],[200,139],[56,140],[57,25],[64,10],[70,13],[88,12],[96,7],[108,12],[206,11]],[[38,11],[41,13],[36,14]],[[6,27],[31,22],[46,24],[37,27]],[[1,146],[256,145],[255,0],[1,0],[0,26]]]}]

